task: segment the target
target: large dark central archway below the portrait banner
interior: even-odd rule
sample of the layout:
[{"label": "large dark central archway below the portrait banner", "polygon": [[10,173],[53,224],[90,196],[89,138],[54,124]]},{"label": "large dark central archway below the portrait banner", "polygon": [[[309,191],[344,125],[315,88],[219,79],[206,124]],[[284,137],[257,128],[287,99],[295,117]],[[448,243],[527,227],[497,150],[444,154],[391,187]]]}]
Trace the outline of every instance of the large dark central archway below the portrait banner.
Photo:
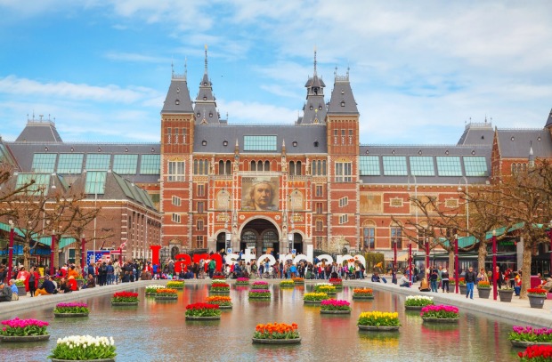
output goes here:
[{"label": "large dark central archway below the portrait banner", "polygon": [[250,248],[251,253],[258,256],[270,253],[277,257],[280,252],[278,229],[268,220],[256,219],[249,221],[239,237],[239,250],[243,251],[246,248]]}]

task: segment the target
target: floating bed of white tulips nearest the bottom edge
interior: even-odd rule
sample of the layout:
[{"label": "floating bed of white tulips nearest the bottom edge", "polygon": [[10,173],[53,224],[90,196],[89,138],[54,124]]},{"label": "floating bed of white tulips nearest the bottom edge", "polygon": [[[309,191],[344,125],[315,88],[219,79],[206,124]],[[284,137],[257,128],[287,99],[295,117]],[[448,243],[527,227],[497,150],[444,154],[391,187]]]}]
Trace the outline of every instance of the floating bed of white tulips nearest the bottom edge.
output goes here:
[{"label": "floating bed of white tulips nearest the bottom edge", "polygon": [[69,335],[59,338],[52,354],[53,361],[63,360],[115,360],[113,337],[93,337],[91,335]]}]

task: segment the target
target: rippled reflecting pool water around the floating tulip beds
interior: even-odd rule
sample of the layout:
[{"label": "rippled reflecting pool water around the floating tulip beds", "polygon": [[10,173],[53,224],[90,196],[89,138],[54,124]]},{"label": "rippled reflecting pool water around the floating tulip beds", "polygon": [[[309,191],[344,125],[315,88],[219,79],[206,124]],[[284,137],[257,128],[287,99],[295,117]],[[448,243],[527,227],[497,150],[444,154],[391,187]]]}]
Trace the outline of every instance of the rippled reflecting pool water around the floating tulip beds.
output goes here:
[{"label": "rippled reflecting pool water around the floating tulip beds", "polygon": [[[87,302],[88,318],[53,318],[53,307],[19,312],[11,318],[37,318],[50,322],[48,342],[0,343],[0,359],[44,361],[57,338],[71,334],[113,336],[120,361],[510,361],[515,350],[507,341],[512,324],[460,310],[458,325],[422,323],[417,311],[404,310],[404,296],[374,291],[372,301],[353,301],[353,287],[344,286],[334,297],[351,302],[351,315],[321,315],[320,307],[303,304],[313,285],[270,286],[270,301],[249,301],[248,286],[231,286],[232,310],[220,321],[185,321],[187,304],[204,302],[205,284],[187,285],[178,300],[155,302],[144,288],[137,307],[111,307],[110,294]],[[399,332],[359,332],[362,311],[397,311]],[[5,317],[5,316],[4,316]],[[6,318],[3,318],[6,319]],[[302,342],[289,346],[251,343],[257,324],[296,323]],[[13,359],[15,358],[15,359]]]}]

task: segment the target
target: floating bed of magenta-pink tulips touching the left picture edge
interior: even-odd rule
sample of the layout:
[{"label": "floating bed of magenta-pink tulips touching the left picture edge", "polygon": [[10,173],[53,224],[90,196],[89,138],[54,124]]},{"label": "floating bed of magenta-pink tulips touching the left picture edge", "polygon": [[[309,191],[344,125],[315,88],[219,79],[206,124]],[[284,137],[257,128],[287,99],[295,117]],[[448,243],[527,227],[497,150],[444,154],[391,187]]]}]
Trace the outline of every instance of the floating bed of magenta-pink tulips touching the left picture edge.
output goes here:
[{"label": "floating bed of magenta-pink tulips touching the left picture edge", "polygon": [[38,319],[13,318],[2,321],[0,341],[4,342],[35,342],[50,338],[46,330],[48,322]]}]

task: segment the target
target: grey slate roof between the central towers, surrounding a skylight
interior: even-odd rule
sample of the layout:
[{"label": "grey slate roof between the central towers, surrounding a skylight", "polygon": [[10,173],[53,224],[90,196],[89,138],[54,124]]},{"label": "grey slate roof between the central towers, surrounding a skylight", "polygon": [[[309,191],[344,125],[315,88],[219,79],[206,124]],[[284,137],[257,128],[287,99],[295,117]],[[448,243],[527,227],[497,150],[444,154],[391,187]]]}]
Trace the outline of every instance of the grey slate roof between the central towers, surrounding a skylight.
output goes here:
[{"label": "grey slate roof between the central towers, surrounding a skylight", "polygon": [[[288,154],[327,153],[326,125],[196,125],[193,151],[198,153],[233,154],[236,140],[239,152],[244,154],[280,153],[285,141]],[[244,135],[276,135],[278,137],[275,151],[245,151]],[[204,141],[207,142],[203,145]],[[224,141],[228,144],[224,146]],[[294,147],[294,141],[296,146]],[[315,146],[318,142],[318,147]]]}]

